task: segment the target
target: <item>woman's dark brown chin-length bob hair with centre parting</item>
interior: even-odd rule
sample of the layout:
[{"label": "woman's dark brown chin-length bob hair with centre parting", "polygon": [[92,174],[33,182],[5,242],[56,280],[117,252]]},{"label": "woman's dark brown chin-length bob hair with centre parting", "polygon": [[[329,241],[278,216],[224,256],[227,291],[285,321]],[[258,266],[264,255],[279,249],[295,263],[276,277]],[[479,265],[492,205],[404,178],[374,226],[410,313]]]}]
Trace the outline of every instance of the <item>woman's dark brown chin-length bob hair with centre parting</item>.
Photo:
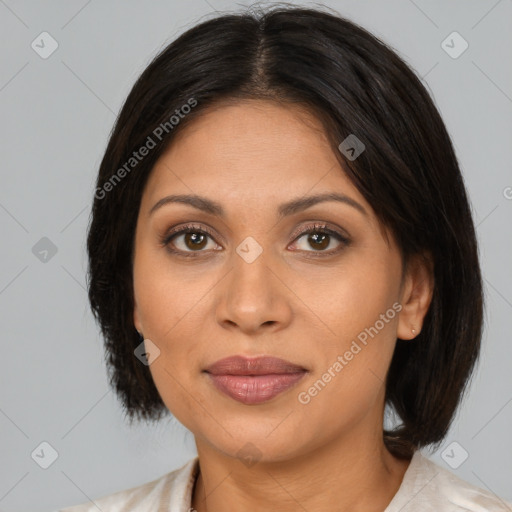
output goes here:
[{"label": "woman's dark brown chin-length bob hair with centre parting", "polygon": [[[391,47],[338,13],[278,4],[216,15],[166,46],[130,91],[99,168],[87,236],[88,296],[105,341],[110,385],[130,422],[169,413],[134,356],[133,249],[155,162],[208,108],[265,99],[306,108],[351,182],[394,236],[403,268],[433,262],[421,333],[397,340],[386,379],[384,443],[398,457],[438,446],[478,360],[483,292],[471,208],[433,100]],[[350,134],[356,159],[338,149]],[[146,148],[146,150],[142,148]],[[134,152],[137,152],[135,155]]]}]

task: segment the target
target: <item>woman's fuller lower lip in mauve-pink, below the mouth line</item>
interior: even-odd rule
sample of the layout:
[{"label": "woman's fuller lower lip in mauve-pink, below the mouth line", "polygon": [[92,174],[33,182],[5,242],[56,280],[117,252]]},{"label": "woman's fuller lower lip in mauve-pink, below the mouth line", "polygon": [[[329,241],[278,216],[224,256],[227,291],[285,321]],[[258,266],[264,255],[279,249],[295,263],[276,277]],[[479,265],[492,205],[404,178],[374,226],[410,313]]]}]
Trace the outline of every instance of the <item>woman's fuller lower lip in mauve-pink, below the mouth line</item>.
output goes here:
[{"label": "woman's fuller lower lip in mauve-pink, below the mouth line", "polygon": [[247,405],[261,404],[291,388],[306,372],[270,375],[208,375],[215,387]]}]

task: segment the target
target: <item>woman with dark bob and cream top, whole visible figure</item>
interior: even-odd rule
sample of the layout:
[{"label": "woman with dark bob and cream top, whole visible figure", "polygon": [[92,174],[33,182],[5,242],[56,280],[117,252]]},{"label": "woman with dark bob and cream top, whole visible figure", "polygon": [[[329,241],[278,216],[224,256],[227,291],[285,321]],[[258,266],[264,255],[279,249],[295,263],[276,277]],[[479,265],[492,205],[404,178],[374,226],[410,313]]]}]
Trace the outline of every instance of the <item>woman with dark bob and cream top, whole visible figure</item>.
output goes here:
[{"label": "woman with dark bob and cream top, whole visible figure", "polygon": [[128,417],[170,411],[198,458],[66,511],[510,507],[419,451],[478,358],[475,229],[431,98],[361,27],[279,7],[171,43],[111,134],[88,253]]}]

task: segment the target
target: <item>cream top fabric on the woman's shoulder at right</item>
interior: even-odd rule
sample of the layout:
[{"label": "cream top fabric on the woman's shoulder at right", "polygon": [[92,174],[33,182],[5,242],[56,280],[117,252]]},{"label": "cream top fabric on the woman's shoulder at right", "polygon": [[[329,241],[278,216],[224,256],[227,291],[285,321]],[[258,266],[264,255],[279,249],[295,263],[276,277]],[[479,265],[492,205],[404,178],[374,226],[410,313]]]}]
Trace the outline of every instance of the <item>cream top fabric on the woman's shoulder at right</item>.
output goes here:
[{"label": "cream top fabric on the woman's shoulder at right", "polygon": [[385,512],[512,512],[512,504],[417,451]]}]

